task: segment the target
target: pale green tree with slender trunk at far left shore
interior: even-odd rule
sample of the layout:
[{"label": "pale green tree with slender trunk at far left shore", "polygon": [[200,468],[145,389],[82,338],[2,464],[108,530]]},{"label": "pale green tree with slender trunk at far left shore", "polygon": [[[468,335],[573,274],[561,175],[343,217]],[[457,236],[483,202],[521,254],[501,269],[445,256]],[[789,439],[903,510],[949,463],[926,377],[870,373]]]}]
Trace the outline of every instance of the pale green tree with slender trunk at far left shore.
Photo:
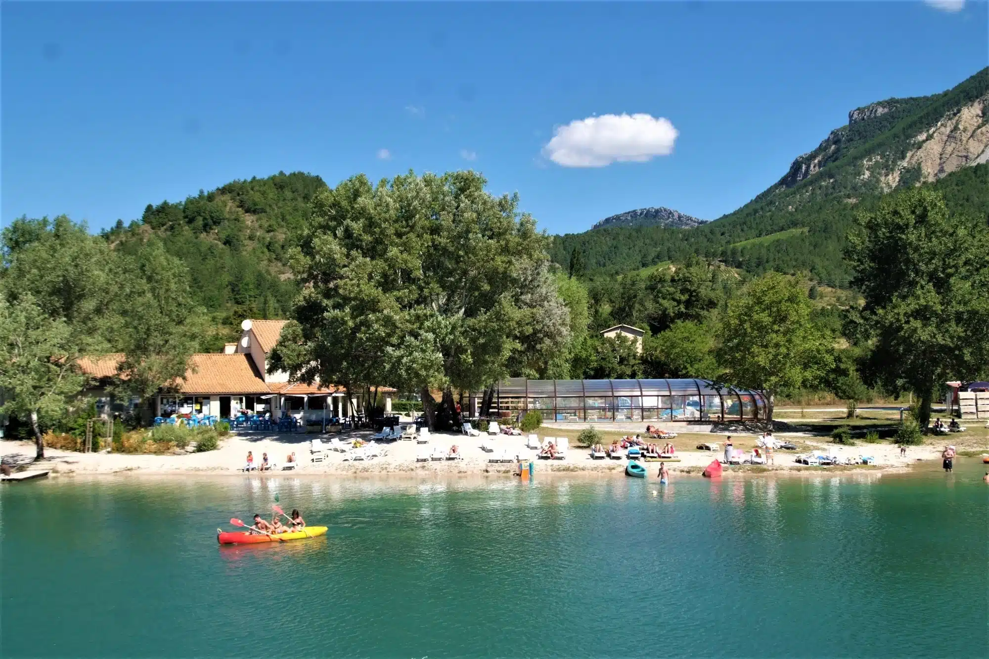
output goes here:
[{"label": "pale green tree with slender trunk at far left shore", "polygon": [[30,293],[9,303],[0,295],[0,411],[28,419],[35,435],[36,458],[45,457],[42,418],[63,415],[85,378],[75,372],[78,352],[72,331],[52,319]]}]

